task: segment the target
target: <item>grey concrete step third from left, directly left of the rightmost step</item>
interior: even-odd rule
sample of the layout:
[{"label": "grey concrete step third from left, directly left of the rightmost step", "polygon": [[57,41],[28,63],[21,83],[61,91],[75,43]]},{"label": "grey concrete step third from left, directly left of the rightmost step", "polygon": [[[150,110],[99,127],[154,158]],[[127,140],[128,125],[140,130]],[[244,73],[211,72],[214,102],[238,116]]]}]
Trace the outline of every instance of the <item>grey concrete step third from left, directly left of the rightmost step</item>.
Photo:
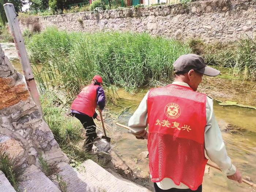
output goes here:
[{"label": "grey concrete step third from left, directly left of the rightmost step", "polygon": [[63,181],[67,182],[68,192],[100,192],[97,185],[87,180],[68,163],[61,162],[57,167],[59,170],[57,174],[63,178]]}]

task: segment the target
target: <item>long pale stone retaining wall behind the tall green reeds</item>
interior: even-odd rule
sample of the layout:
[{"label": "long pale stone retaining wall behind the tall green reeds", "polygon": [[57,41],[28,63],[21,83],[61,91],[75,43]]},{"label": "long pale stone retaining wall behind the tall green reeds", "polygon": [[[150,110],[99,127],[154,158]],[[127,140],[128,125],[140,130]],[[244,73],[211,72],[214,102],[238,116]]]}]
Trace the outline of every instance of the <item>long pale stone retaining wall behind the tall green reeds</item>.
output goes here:
[{"label": "long pale stone retaining wall behind the tall green reeds", "polygon": [[[185,5],[42,16],[36,20],[42,29],[56,26],[68,31],[138,31],[178,39],[232,41],[245,34],[256,37],[256,1],[204,0]],[[24,20],[20,25],[23,30],[32,26]]]}]

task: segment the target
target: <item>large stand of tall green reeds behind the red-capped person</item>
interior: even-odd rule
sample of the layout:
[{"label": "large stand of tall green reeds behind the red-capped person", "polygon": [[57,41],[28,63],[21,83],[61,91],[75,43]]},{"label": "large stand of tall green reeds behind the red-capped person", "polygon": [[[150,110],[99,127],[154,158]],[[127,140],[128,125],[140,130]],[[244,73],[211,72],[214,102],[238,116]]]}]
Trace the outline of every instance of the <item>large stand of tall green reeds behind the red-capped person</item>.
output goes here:
[{"label": "large stand of tall green reeds behind the red-capped person", "polygon": [[43,64],[36,78],[73,96],[95,74],[102,75],[106,85],[128,91],[168,80],[173,62],[191,52],[186,44],[146,33],[68,33],[55,28],[34,35],[28,48],[31,62]]}]

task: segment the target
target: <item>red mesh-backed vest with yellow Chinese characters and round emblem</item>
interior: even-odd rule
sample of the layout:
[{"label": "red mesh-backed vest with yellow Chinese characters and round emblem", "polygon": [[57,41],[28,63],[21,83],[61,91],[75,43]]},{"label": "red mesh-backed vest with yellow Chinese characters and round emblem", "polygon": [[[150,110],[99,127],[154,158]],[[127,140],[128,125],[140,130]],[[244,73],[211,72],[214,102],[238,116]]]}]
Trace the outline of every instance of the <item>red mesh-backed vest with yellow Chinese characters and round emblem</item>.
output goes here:
[{"label": "red mesh-backed vest with yellow Chinese characters and round emblem", "polygon": [[152,182],[167,177],[196,190],[203,182],[206,95],[171,84],[148,93],[148,153]]}]

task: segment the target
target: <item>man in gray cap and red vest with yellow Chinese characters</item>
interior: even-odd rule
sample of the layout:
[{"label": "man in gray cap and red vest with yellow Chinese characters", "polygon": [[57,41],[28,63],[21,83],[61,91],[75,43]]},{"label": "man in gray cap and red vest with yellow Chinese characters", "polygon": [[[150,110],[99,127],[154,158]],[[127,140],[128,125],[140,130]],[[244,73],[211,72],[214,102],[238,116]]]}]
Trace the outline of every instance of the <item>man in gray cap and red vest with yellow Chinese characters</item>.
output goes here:
[{"label": "man in gray cap and red vest with yellow Chinese characters", "polygon": [[220,71],[196,54],[180,56],[173,67],[174,82],[148,91],[128,123],[137,139],[148,139],[155,191],[201,192],[204,150],[229,179],[241,183],[240,172],[227,156],[213,99],[196,91],[203,75],[217,76]]}]

